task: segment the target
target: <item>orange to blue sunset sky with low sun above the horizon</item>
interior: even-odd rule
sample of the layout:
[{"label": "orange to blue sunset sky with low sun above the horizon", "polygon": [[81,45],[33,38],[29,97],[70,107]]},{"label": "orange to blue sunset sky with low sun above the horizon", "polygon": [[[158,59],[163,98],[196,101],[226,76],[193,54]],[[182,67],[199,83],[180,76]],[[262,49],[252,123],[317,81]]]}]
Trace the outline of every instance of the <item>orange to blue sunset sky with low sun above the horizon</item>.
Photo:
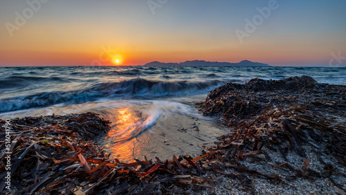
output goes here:
[{"label": "orange to blue sunset sky with low sun above the horizon", "polygon": [[0,2],[0,66],[346,66],[345,0]]}]

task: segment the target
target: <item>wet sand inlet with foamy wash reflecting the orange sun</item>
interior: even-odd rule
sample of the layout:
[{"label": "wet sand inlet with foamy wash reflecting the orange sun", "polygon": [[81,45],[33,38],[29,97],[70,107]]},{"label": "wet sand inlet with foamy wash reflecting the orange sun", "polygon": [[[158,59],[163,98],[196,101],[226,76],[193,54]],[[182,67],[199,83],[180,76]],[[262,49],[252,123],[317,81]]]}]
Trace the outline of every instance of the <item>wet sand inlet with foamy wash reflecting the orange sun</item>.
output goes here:
[{"label": "wet sand inlet with foamy wash reflecting the orange sun", "polygon": [[104,147],[111,154],[111,159],[117,158],[126,163],[143,160],[144,156],[166,160],[172,159],[173,155],[195,157],[202,149],[214,145],[218,136],[228,133],[218,120],[199,113],[195,104],[205,98],[205,95],[196,95],[50,106],[3,114],[0,118],[99,113],[100,117],[111,122],[111,129],[92,140]]}]

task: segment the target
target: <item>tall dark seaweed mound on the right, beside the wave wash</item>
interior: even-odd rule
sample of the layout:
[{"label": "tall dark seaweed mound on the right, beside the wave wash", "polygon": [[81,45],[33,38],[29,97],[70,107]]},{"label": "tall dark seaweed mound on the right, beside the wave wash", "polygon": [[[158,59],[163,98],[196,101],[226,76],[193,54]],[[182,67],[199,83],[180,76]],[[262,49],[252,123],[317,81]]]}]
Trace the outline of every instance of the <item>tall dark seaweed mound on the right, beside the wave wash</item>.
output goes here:
[{"label": "tall dark seaweed mound on the right, beside the wave wash", "polygon": [[[308,76],[284,80],[253,79],[246,84],[229,83],[214,89],[206,102],[199,104],[205,115],[221,116],[223,124],[233,131],[219,139],[216,149],[226,149],[226,161],[239,164],[246,156],[280,151],[286,162],[268,163],[286,167],[295,176],[329,177],[337,173],[333,165],[321,158],[333,156],[346,166],[346,86],[319,84]],[[312,147],[324,172],[307,168],[304,145]],[[286,156],[294,152],[307,158],[301,169],[293,169]],[[332,182],[340,187],[334,180]]]}]

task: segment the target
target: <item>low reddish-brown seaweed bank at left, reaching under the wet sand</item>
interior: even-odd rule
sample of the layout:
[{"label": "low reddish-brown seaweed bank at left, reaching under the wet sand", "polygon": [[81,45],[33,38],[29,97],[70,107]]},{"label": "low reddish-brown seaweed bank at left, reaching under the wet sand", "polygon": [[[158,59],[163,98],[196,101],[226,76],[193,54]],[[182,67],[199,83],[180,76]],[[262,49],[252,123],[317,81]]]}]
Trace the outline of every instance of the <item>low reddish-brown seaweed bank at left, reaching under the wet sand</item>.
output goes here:
[{"label": "low reddish-brown seaweed bank at left, reaching under the wet sand", "polygon": [[[6,120],[1,120],[2,124]],[[212,180],[201,176],[206,168],[200,160],[173,156],[172,160],[109,160],[91,138],[109,131],[109,122],[96,113],[27,117],[10,122],[10,190],[5,142],[1,142],[1,191],[7,194],[147,194],[183,193],[183,187],[208,189]],[[1,136],[4,135],[1,127]]]}]

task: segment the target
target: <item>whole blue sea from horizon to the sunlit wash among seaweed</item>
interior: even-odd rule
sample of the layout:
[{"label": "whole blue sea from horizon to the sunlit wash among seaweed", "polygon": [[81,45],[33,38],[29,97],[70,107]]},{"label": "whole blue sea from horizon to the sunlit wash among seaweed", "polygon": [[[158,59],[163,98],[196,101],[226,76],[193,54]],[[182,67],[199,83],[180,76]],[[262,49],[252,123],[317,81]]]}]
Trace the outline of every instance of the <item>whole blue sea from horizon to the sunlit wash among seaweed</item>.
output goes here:
[{"label": "whole blue sea from horizon to the sunlit wash among seaweed", "polygon": [[196,156],[229,132],[198,102],[228,82],[309,75],[346,85],[346,68],[239,66],[0,67],[0,118],[99,113],[111,122],[93,141],[124,162]]}]

